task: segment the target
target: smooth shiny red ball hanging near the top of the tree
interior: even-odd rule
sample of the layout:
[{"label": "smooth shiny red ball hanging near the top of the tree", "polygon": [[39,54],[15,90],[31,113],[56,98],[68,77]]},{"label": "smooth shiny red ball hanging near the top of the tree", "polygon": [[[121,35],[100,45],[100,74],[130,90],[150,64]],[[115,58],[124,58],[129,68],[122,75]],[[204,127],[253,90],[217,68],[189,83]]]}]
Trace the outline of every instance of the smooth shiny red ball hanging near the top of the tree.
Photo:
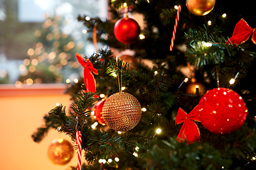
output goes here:
[{"label": "smooth shiny red ball hanging near the top of the tree", "polygon": [[139,24],[132,18],[121,18],[114,24],[114,36],[123,44],[137,41],[139,33]]}]

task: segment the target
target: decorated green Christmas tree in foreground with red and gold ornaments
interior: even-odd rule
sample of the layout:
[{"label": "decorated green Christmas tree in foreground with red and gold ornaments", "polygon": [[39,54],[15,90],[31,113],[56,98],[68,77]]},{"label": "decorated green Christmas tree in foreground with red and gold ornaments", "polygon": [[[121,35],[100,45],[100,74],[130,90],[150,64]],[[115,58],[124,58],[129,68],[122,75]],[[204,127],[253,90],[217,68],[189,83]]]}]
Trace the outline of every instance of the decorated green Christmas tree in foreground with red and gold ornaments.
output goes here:
[{"label": "decorated green Christmas tree in foreground with red and gold ornaments", "polygon": [[73,104],[53,108],[33,140],[70,135],[82,169],[255,169],[255,23],[241,3],[116,0],[109,20],[78,16],[92,43],[134,55],[76,54],[85,74],[67,89]]}]

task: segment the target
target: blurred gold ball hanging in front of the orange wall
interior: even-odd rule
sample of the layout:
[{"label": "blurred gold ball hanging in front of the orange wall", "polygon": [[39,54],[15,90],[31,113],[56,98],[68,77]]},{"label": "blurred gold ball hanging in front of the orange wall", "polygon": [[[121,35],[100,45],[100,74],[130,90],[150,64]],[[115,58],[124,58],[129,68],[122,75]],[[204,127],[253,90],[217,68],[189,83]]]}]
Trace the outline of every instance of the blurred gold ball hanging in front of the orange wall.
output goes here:
[{"label": "blurred gold ball hanging in front of the orange wall", "polygon": [[53,140],[48,148],[48,158],[50,162],[57,165],[65,165],[70,162],[74,155],[73,145],[68,140]]}]

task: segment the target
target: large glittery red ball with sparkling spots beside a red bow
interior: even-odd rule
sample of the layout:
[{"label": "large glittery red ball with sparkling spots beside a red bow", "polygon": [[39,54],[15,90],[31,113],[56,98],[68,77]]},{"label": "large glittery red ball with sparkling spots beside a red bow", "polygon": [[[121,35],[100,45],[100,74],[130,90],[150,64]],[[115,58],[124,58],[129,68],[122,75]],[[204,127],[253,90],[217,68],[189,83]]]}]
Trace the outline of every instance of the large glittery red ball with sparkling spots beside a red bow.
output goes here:
[{"label": "large glittery red ball with sparkling spots beside a red bow", "polygon": [[247,113],[245,101],[231,89],[209,90],[198,104],[198,116],[202,125],[218,134],[234,132],[240,128]]}]

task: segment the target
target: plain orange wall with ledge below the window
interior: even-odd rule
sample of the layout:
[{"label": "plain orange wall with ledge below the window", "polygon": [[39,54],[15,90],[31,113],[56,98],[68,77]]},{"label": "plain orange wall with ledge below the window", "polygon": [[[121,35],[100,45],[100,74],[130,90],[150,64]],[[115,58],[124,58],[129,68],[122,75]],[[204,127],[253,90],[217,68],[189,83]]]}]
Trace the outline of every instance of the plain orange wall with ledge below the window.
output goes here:
[{"label": "plain orange wall with ledge below the window", "polygon": [[70,140],[68,135],[51,129],[40,143],[31,138],[43,125],[43,116],[56,103],[69,106],[70,96],[64,94],[64,90],[64,85],[32,85],[18,89],[0,85],[0,169],[65,170],[77,165],[76,154],[65,166],[54,165],[47,157],[51,141],[58,137]]}]

